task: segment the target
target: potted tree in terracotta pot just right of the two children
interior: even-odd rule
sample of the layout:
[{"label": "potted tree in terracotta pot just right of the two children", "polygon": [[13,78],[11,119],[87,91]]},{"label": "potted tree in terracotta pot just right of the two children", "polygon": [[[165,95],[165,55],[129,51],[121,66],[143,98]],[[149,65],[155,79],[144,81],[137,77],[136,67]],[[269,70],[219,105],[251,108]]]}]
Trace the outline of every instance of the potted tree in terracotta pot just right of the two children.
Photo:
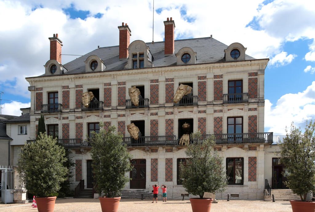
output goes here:
[{"label": "potted tree in terracotta pot just right of the two children", "polygon": [[223,192],[226,187],[226,173],[221,167],[222,158],[215,146],[215,137],[203,140],[200,131],[190,135],[193,141],[185,153],[188,159],[181,163],[183,187],[189,194],[199,196],[190,198],[193,212],[209,212],[212,198],[203,198],[204,192]]}]

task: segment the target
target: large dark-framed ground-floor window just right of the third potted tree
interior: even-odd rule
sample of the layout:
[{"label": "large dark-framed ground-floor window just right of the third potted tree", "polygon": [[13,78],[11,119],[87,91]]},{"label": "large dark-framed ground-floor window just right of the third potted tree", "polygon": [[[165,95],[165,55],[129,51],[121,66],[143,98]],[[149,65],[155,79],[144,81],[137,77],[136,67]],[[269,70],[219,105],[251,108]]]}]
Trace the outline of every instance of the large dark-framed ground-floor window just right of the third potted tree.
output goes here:
[{"label": "large dark-framed ground-floor window just right of the third potted tree", "polygon": [[226,175],[228,185],[243,185],[244,158],[226,158]]}]

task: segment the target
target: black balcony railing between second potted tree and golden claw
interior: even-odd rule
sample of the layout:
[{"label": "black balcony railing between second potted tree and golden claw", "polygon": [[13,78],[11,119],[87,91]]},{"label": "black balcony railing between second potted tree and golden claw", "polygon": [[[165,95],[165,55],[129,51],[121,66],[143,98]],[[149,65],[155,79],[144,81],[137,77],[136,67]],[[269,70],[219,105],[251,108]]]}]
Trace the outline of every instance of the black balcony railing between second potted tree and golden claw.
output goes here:
[{"label": "black balcony railing between second potted tree and golden claw", "polygon": [[175,135],[140,136],[138,140],[124,137],[123,143],[127,146],[177,145],[177,140]]}]

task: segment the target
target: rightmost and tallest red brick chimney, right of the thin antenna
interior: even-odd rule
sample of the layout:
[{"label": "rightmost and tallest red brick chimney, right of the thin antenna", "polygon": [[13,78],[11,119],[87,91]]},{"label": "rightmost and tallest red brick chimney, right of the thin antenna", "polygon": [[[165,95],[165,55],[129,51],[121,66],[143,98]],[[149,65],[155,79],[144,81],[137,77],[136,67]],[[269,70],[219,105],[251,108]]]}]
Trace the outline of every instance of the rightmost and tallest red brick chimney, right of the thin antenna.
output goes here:
[{"label": "rightmost and tallest red brick chimney, right of the thin antenna", "polygon": [[170,19],[167,18],[167,20],[164,21],[164,26],[165,26],[164,55],[172,55],[174,54],[174,28],[175,28],[175,23],[174,23],[174,20],[172,20],[172,17]]}]

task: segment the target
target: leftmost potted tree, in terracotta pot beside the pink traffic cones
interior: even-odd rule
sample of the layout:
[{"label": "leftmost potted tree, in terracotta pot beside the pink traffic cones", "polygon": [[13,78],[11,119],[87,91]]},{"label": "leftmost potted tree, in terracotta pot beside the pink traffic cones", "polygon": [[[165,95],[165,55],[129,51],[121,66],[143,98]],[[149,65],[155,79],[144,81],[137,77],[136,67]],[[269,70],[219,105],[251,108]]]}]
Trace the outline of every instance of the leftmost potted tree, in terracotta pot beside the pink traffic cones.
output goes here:
[{"label": "leftmost potted tree, in terracotta pot beside the pink traffic cones", "polygon": [[60,184],[69,170],[65,149],[52,136],[40,134],[35,142],[22,147],[17,171],[22,186],[36,196],[39,212],[53,212]]}]

